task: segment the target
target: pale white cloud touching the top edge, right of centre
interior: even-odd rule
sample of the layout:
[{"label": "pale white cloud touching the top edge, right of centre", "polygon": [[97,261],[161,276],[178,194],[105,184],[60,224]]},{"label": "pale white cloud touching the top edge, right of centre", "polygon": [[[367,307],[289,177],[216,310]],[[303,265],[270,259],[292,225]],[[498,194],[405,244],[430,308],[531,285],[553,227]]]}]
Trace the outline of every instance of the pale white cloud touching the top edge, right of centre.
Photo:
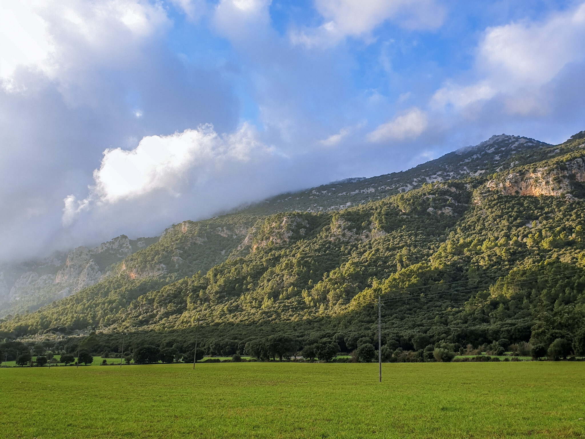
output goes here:
[{"label": "pale white cloud touching the top edge, right of centre", "polygon": [[436,29],[445,16],[434,0],[315,0],[315,8],[325,23],[318,28],[292,31],[292,42],[327,46],[347,36],[367,38],[386,20],[395,20],[408,29]]}]

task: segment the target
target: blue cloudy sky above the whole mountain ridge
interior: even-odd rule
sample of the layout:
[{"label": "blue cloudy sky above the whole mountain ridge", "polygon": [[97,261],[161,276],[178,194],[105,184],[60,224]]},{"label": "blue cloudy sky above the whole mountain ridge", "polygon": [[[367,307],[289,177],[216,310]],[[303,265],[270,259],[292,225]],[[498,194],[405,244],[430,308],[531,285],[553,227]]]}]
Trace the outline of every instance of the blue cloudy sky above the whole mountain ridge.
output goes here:
[{"label": "blue cloudy sky above the whole mountain ridge", "polygon": [[0,0],[0,260],[585,129],[585,2]]}]

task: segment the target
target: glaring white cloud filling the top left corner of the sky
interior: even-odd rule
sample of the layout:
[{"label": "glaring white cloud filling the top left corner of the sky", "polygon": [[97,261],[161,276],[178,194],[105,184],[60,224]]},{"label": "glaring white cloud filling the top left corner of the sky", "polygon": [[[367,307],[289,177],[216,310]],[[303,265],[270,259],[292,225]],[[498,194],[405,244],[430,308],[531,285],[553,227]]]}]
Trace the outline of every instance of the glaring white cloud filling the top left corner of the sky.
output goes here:
[{"label": "glaring white cloud filling the top left corner of the sky", "polygon": [[145,0],[0,2],[0,77],[15,87],[19,67],[67,84],[71,71],[124,63],[136,44],[169,23]]}]

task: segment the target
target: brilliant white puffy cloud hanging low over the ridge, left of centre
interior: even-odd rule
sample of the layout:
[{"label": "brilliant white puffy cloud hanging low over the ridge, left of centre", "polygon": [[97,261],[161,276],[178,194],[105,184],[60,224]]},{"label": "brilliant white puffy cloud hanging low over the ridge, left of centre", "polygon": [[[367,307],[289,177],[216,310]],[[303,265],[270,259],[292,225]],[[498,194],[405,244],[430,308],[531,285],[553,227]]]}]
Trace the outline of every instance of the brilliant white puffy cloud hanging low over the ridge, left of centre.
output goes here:
[{"label": "brilliant white puffy cloud hanging low over the ridge, left of centre", "polygon": [[90,196],[63,200],[63,224],[70,225],[94,204],[115,204],[160,190],[178,196],[181,188],[215,180],[225,167],[246,163],[250,155],[269,154],[246,124],[229,135],[219,135],[207,124],[168,136],[146,136],[132,150],[106,149],[94,171]]}]

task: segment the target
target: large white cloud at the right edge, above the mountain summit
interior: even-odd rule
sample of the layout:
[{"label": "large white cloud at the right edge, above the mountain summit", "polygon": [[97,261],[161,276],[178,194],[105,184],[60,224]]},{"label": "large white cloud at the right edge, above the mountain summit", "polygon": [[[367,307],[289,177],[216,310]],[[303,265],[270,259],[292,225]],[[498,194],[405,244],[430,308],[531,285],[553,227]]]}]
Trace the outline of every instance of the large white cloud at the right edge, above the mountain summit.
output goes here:
[{"label": "large white cloud at the right edge, above the mountain summit", "polygon": [[510,114],[543,111],[540,89],[571,63],[585,60],[585,3],[542,22],[524,20],[486,29],[476,52],[476,83],[436,91],[433,107],[464,108],[500,96]]}]

